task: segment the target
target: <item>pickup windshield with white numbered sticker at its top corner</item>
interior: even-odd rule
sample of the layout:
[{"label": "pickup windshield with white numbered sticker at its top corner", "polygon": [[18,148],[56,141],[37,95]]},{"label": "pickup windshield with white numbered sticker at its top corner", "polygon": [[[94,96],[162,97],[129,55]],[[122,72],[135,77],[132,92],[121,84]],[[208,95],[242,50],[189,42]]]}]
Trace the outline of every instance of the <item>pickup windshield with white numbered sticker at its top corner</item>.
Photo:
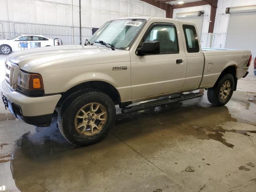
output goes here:
[{"label": "pickup windshield with white numbered sticker at its top corner", "polygon": [[145,23],[144,19],[108,21],[90,38],[90,45],[98,46],[97,42],[104,41],[115,49],[128,50]]}]

